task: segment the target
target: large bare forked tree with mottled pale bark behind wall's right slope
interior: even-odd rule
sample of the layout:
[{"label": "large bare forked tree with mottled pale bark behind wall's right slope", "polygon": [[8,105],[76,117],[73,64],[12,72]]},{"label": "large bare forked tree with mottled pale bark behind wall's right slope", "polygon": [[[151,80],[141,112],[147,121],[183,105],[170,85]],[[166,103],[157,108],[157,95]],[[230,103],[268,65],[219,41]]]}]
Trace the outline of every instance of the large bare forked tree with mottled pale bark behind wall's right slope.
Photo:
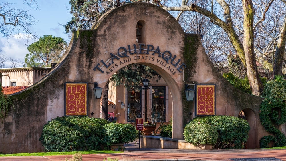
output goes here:
[{"label": "large bare forked tree with mottled pale bark behind wall's right slope", "polygon": [[[270,0],[270,1],[267,1],[266,3],[264,1],[259,1],[259,0],[256,1],[257,3],[259,3],[261,8],[263,8],[263,13],[264,13],[263,15],[265,15],[267,13],[267,11],[269,10],[269,7],[272,5],[273,1],[274,0]],[[251,11],[250,9],[249,10],[243,9],[244,8],[243,5],[245,5],[245,3],[248,3],[248,4],[251,3],[252,4],[252,0],[249,0],[249,1],[229,1],[229,3],[227,3],[224,0],[216,0],[216,2],[217,2],[216,4],[221,7],[221,10],[223,13],[223,16],[221,16],[221,17],[223,17],[224,20],[220,19],[219,16],[217,16],[213,12],[212,9],[209,11],[209,10],[207,10],[203,7],[200,7],[194,3],[192,3],[190,5],[186,5],[186,1],[184,1],[184,0],[182,1],[182,5],[180,7],[164,7],[163,5],[160,4],[159,1],[157,1],[157,3],[166,10],[170,10],[170,11],[194,11],[194,12],[200,13],[200,14],[208,17],[210,19],[210,21],[213,22],[215,25],[218,25],[219,27],[221,27],[225,31],[225,33],[227,34],[230,42],[232,43],[233,47],[235,48],[235,50],[237,52],[237,55],[241,59],[241,62],[243,63],[245,69],[251,70],[251,71],[247,71],[247,76],[249,77],[250,84],[252,85],[253,94],[260,95],[261,91],[263,89],[263,86],[262,86],[261,80],[257,74],[255,57],[253,57],[254,51],[252,49],[254,49],[254,43],[252,43],[253,40],[251,40],[251,39],[253,39],[253,37],[245,37],[244,36],[243,37],[244,44],[242,43],[242,41],[241,41],[242,38],[240,37],[240,34],[243,33],[243,31],[248,30],[248,31],[252,32],[252,34],[256,33],[255,31],[253,31],[253,29],[250,29],[253,27],[245,26],[243,24],[241,25],[241,23],[250,24],[251,21],[253,21],[254,19],[257,20],[257,17],[254,17],[254,16],[252,16],[252,18],[253,18],[252,20],[250,17],[248,17],[249,13],[247,11]],[[230,7],[230,3],[233,6]],[[215,6],[216,4],[213,4],[213,6]],[[238,4],[241,7],[239,7]],[[238,7],[238,10],[240,12],[231,13],[231,11],[234,11],[234,9],[237,9],[237,7]],[[252,10],[253,10],[252,14],[254,14],[255,12],[254,12],[253,7],[252,7]],[[242,13],[242,14],[239,14],[239,13]],[[244,20],[246,20],[246,21],[238,21],[236,24],[234,24],[234,19],[232,18],[232,15],[235,15],[236,19],[239,19],[239,18],[237,18],[237,16],[239,16],[239,15],[245,15],[246,17],[244,17]],[[250,18],[250,19],[248,19],[248,18]],[[264,18],[265,17],[258,19],[256,24],[262,23],[264,21]],[[239,19],[239,20],[242,20],[242,19]],[[239,26],[243,26],[243,28],[242,28],[243,30],[239,30]],[[248,40],[245,40],[245,39],[248,39]],[[247,47],[247,51],[245,51],[246,46],[244,46],[244,45],[249,45]],[[251,52],[249,51],[249,49],[251,49]],[[285,50],[285,48],[284,48],[284,50]],[[248,57],[247,59],[246,59],[246,56]]]}]

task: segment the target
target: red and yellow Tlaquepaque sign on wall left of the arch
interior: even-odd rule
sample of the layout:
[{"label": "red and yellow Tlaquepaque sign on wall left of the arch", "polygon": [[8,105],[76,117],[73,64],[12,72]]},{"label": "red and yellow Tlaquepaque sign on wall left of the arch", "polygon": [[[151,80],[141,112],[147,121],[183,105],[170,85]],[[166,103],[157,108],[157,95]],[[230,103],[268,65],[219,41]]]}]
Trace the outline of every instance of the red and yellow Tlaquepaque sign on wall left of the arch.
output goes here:
[{"label": "red and yellow Tlaquepaque sign on wall left of the arch", "polygon": [[65,83],[65,116],[87,115],[87,83]]}]

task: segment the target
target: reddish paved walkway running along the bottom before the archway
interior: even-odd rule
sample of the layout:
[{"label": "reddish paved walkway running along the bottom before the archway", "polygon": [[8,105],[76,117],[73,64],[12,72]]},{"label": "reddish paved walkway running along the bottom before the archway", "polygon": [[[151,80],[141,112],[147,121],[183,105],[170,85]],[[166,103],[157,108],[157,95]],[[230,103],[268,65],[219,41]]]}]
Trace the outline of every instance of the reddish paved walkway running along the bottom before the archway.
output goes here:
[{"label": "reddish paved walkway running along the bottom before the archway", "polygon": [[[126,146],[126,145],[125,145]],[[0,157],[1,161],[64,161],[72,155],[61,156],[21,156]],[[286,149],[151,149],[141,148],[138,144],[125,147],[124,153],[119,154],[83,154],[84,161],[102,161],[107,158],[125,161],[286,161]]]}]

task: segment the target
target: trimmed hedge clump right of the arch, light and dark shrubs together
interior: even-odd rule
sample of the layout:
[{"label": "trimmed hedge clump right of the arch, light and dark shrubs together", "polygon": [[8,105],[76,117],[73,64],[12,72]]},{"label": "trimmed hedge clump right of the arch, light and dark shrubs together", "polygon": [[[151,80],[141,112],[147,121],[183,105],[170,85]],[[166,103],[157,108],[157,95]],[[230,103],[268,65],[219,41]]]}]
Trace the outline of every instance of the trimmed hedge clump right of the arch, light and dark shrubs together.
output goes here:
[{"label": "trimmed hedge clump right of the arch, light and dark shrubs together", "polygon": [[[190,125],[189,125],[190,124]],[[184,137],[188,139],[190,135],[202,138],[199,143],[205,142],[213,143],[216,135],[215,132],[211,133],[213,129],[217,130],[218,137],[213,148],[216,149],[241,149],[247,141],[250,126],[244,119],[234,116],[206,116],[196,117],[185,127]],[[195,125],[192,125],[195,124]],[[199,125],[198,125],[199,124]],[[206,125],[205,125],[206,124]],[[191,130],[190,130],[191,129]],[[194,138],[194,137],[192,137]]]}]

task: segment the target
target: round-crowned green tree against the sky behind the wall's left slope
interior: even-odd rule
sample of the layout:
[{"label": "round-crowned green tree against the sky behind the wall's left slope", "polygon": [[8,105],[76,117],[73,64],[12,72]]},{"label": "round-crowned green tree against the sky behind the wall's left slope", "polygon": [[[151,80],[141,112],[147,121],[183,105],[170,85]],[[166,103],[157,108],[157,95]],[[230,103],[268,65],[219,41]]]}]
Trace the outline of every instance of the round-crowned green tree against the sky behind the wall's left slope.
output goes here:
[{"label": "round-crowned green tree against the sky behind the wall's left slope", "polygon": [[[64,46],[64,48],[63,48]],[[53,60],[58,60],[67,47],[67,42],[63,38],[52,35],[44,35],[39,38],[39,41],[32,43],[27,47],[29,54],[26,54],[25,63],[27,65],[39,63],[41,60],[42,66],[50,66]],[[35,64],[33,64],[35,65]]]}]

